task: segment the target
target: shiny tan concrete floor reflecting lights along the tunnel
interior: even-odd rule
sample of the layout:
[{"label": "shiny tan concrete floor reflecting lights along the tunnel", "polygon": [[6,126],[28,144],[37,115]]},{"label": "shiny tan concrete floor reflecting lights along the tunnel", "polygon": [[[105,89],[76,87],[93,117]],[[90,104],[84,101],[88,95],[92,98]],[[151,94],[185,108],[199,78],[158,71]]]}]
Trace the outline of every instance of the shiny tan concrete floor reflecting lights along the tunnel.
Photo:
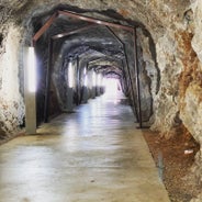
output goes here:
[{"label": "shiny tan concrete floor reflecting lights along the tunnel", "polygon": [[0,202],[169,202],[130,106],[76,111],[0,146]]}]

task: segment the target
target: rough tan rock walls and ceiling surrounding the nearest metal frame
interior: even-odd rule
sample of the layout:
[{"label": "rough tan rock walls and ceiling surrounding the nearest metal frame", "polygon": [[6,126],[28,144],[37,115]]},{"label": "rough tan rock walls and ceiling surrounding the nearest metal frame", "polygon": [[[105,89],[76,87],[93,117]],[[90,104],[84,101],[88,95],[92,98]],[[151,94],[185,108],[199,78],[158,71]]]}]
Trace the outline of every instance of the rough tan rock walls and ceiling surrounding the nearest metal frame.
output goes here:
[{"label": "rough tan rock walls and ceiling surrounding the nearest metal frame", "polygon": [[[37,30],[33,21],[63,5],[93,11],[103,20],[117,16],[121,23],[139,25],[138,63],[143,83],[147,83],[142,93],[143,108],[153,112],[152,130],[169,138],[183,125],[202,145],[201,0],[1,0],[0,133],[16,133],[23,123],[22,49]],[[126,46],[131,48],[128,43]],[[195,157],[195,173],[202,182],[202,149]]]}]

